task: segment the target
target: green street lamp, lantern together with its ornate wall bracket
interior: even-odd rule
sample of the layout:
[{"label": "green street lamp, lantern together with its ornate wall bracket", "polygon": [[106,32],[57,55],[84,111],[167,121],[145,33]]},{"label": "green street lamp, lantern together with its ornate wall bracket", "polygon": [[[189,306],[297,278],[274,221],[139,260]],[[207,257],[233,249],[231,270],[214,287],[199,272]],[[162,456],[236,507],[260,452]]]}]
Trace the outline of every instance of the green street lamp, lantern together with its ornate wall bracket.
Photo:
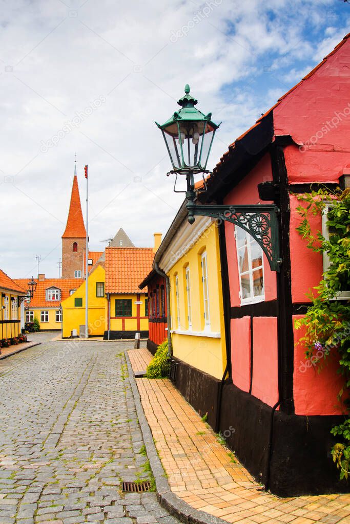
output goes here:
[{"label": "green street lamp, lantern together with its ornate wall bracket", "polygon": [[[279,248],[280,210],[275,204],[259,205],[218,205],[198,204],[194,175],[209,173],[207,163],[215,132],[220,124],[211,120],[211,113],[205,115],[195,105],[197,100],[185,85],[185,96],[178,102],[181,106],[163,125],[157,124],[165,140],[173,169],[167,173],[176,174],[174,191],[186,193],[188,222],[193,224],[195,216],[211,216],[220,221],[231,222],[247,231],[266,254],[272,271],[280,271],[282,259]],[[187,191],[177,191],[178,174],[186,176]]]}]

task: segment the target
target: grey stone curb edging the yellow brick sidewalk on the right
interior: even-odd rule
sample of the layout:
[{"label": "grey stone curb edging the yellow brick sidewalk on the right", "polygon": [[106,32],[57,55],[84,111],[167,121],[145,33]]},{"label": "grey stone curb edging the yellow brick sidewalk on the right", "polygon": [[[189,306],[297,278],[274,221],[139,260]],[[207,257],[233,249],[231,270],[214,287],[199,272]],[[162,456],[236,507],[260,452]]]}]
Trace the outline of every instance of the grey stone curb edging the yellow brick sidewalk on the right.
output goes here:
[{"label": "grey stone curb edging the yellow brick sidewalk on the right", "polygon": [[161,506],[163,506],[163,508],[167,509],[169,513],[177,517],[182,522],[185,522],[185,524],[227,524],[226,520],[222,520],[218,517],[214,517],[214,515],[209,515],[205,511],[199,511],[198,509],[193,508],[171,491],[166,478],[166,473],[153,442],[149,423],[147,422],[145,413],[143,411],[139,390],[136,386],[134,373],[128,356],[128,350],[125,350],[125,358],[126,364],[128,365],[129,380],[134,396],[137,417],[139,418],[147,456],[149,458],[152,472],[155,477],[157,499],[159,503]]}]

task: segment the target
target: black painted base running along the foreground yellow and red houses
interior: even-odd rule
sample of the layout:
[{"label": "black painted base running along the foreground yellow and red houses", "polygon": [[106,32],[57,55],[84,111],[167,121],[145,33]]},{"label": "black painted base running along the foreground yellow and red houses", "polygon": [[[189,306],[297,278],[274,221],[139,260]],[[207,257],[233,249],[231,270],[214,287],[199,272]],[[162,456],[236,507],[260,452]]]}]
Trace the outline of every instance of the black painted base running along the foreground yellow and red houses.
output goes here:
[{"label": "black painted base running along the foreground yellow and red houses", "polygon": [[[220,380],[175,359],[174,384],[185,399],[215,427]],[[336,442],[330,433],[339,416],[304,417],[275,411],[227,380],[222,391],[220,432],[240,462],[262,484],[279,496],[347,493],[339,480],[330,450]],[[272,453],[269,446],[272,427]]]}]

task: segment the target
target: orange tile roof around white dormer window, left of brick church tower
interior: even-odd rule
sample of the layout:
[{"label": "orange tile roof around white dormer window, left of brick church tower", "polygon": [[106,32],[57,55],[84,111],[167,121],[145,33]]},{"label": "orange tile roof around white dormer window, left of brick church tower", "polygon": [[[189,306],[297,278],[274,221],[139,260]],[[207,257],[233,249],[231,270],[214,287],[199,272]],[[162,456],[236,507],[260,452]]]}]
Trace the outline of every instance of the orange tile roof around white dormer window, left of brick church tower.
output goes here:
[{"label": "orange tile roof around white dormer window, left of brick church tower", "polygon": [[[19,286],[27,285],[28,279],[16,278],[15,282]],[[29,308],[58,308],[61,301],[69,297],[71,289],[77,289],[84,281],[83,278],[46,278],[37,281],[34,297],[27,304]],[[46,300],[46,289],[55,287],[61,290],[61,300]]]}]

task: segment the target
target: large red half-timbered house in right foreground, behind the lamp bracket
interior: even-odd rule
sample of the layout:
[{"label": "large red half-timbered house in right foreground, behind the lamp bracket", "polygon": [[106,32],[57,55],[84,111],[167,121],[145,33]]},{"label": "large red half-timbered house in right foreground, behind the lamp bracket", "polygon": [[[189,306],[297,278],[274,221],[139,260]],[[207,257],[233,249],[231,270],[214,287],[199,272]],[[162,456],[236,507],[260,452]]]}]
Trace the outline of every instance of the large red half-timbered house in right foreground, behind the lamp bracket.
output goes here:
[{"label": "large red half-timbered house in right foreground, behind the lamp bracket", "polygon": [[[305,368],[294,320],[321,280],[322,256],[296,232],[293,193],[347,183],[350,174],[350,38],[344,40],[258,122],[229,146],[206,203],[274,203],[280,209],[282,265],[272,272],[259,245],[226,222],[221,250],[229,379],[223,381],[219,428],[240,460],[273,493],[348,489],[338,481],[330,429],[343,420],[335,364]],[[321,216],[314,226],[321,230]]]}]

